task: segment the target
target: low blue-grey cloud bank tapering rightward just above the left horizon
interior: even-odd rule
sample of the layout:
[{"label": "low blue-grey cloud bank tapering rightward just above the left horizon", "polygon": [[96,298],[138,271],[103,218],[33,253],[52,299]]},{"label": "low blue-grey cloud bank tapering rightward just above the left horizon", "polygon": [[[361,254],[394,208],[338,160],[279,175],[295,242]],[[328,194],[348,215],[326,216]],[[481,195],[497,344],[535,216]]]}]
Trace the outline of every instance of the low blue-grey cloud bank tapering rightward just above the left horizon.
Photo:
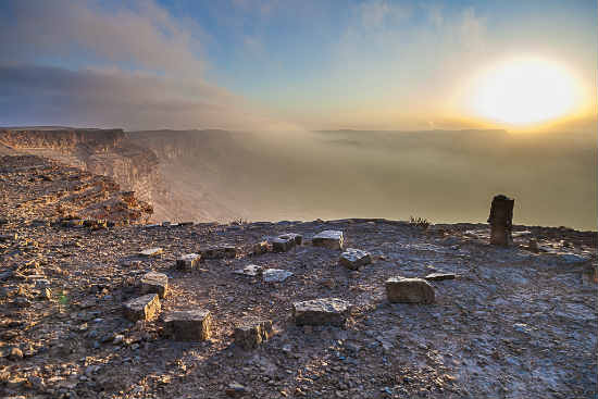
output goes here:
[{"label": "low blue-grey cloud bank tapering rightward just above the left horizon", "polygon": [[128,129],[290,129],[201,80],[60,67],[0,66],[0,121]]}]

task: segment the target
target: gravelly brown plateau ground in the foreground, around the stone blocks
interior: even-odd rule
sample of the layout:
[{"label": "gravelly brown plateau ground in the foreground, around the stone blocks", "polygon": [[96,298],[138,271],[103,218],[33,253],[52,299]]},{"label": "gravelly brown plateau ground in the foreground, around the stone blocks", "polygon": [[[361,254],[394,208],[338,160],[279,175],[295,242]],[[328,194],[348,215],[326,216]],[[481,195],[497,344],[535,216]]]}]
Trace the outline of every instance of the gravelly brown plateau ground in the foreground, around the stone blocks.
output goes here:
[{"label": "gravelly brown plateau ground in the foreground, around the stone blocks", "polygon": [[[90,228],[15,208],[22,187],[10,173],[0,182],[0,397],[596,397],[596,232],[515,226],[514,245],[497,248],[487,225],[386,220]],[[344,247],[372,262],[339,264],[341,250],[312,244],[322,230],[342,232]],[[301,245],[253,253],[286,233]],[[176,267],[219,245],[234,258]],[[235,273],[250,264],[292,275]],[[147,272],[166,274],[170,292],[157,319],[134,323],[123,303],[141,295]],[[387,278],[431,273],[454,275],[428,282],[434,302],[388,301]],[[294,302],[321,298],[350,303],[344,325],[298,326]],[[211,313],[209,339],[166,334],[166,315],[196,309]],[[252,317],[274,334],[244,349],[234,331]]]}]

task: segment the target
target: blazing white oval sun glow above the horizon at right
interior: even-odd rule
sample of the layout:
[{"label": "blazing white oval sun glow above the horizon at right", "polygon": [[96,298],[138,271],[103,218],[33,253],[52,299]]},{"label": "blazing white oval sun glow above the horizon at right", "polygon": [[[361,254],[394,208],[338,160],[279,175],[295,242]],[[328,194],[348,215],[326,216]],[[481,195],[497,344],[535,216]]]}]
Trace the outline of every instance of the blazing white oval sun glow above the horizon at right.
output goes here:
[{"label": "blazing white oval sun glow above the horizon at right", "polygon": [[575,79],[559,64],[520,59],[482,74],[471,100],[479,117],[530,125],[570,114],[577,101],[576,91]]}]

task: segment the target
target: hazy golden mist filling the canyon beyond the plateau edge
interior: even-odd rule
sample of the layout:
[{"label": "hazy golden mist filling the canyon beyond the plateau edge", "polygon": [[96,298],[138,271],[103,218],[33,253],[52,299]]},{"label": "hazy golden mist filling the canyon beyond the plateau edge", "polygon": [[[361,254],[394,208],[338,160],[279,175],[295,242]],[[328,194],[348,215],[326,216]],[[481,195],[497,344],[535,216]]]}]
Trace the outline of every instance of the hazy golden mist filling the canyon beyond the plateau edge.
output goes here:
[{"label": "hazy golden mist filling the canyon beyond the plateau edge", "polygon": [[163,160],[175,219],[421,216],[485,222],[493,196],[514,223],[596,229],[593,135],[504,130],[139,132]]}]

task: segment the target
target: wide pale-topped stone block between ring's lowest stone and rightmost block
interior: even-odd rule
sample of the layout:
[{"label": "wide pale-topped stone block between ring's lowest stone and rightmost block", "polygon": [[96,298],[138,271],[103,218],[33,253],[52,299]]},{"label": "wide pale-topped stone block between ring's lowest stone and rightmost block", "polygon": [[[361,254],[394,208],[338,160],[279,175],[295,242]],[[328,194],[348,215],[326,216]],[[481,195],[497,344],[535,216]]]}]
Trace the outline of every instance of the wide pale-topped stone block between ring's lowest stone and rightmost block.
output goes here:
[{"label": "wide pale-topped stone block between ring's lowest stone and rightmost block", "polygon": [[313,299],[292,303],[295,324],[341,327],[349,315],[350,303],[338,298]]}]

